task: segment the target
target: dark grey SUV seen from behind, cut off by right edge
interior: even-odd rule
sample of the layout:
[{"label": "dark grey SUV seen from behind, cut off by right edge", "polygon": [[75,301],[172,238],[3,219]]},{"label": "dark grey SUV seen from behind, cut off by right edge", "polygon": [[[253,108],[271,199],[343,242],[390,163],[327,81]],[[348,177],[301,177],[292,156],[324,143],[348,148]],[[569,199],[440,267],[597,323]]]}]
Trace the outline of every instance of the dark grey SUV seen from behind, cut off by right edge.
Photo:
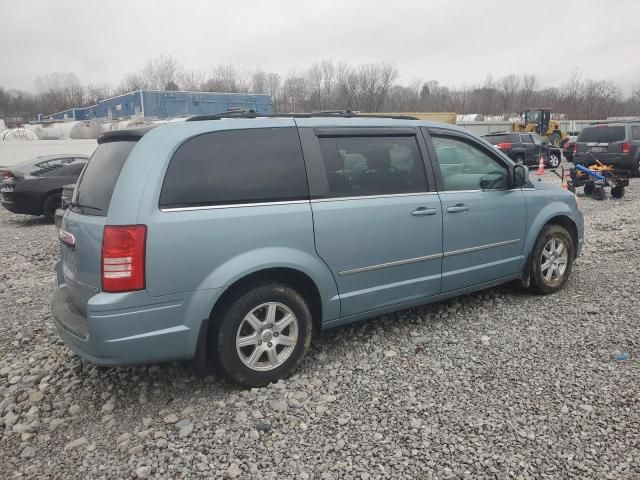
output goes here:
[{"label": "dark grey SUV seen from behind, cut off by right edge", "polygon": [[576,140],[573,163],[605,165],[640,176],[640,119],[600,122],[584,127]]}]

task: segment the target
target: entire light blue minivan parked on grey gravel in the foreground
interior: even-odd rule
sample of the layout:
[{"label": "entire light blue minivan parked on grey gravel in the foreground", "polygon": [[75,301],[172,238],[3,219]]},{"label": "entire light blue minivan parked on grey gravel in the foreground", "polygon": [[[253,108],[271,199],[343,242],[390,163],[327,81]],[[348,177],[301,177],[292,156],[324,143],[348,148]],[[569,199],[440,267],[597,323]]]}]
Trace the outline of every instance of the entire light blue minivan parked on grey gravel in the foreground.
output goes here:
[{"label": "entire light blue minivan parked on grey gravel in the foreground", "polygon": [[555,292],[583,240],[572,193],[452,125],[236,112],[98,143],[52,310],[100,365],[264,385],[325,328],[512,280]]}]

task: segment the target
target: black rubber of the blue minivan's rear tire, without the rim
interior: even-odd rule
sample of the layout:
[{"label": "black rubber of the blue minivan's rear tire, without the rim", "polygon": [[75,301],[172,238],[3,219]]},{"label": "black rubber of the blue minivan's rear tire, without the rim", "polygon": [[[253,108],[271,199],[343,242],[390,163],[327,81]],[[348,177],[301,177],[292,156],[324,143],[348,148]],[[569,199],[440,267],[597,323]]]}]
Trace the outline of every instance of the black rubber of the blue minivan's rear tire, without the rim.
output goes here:
[{"label": "black rubber of the blue minivan's rear tire, without the rim", "polygon": [[[268,302],[284,305],[293,313],[297,321],[297,341],[288,357],[283,359],[282,364],[270,370],[258,371],[245,364],[240,353],[243,348],[257,349],[258,347],[236,347],[236,336],[241,334],[242,328],[245,328],[243,326],[245,317]],[[230,382],[242,387],[264,386],[291,374],[304,358],[311,343],[313,331],[311,312],[302,295],[288,285],[273,282],[255,283],[238,291],[227,299],[212,321],[209,352],[214,365]],[[266,326],[266,323],[264,325]],[[265,334],[267,330],[265,328]],[[257,330],[255,333],[262,335]],[[269,338],[271,335],[269,333]],[[244,350],[242,352],[244,353]],[[260,358],[266,360],[266,353],[258,355],[257,360]]]}]

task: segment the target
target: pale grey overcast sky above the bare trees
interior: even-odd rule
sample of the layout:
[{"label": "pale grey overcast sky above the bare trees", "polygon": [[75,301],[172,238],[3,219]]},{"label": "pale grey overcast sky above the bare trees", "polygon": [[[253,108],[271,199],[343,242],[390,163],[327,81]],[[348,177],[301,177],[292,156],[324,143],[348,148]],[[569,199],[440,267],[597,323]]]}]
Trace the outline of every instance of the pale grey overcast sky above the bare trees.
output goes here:
[{"label": "pale grey overcast sky above the bare trees", "polygon": [[315,61],[391,62],[414,78],[473,85],[536,73],[640,85],[640,0],[0,0],[0,86],[75,72],[119,83],[147,59],[287,74]]}]

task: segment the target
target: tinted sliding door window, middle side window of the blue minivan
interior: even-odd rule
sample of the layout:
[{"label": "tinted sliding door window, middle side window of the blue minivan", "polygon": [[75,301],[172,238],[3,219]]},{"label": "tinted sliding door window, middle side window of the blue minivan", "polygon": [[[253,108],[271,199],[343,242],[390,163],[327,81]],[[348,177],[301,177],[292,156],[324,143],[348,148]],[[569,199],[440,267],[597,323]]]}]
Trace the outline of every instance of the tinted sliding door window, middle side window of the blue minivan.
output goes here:
[{"label": "tinted sliding door window, middle side window of the blue minivan", "polygon": [[424,165],[416,138],[319,138],[329,196],[424,192]]}]

